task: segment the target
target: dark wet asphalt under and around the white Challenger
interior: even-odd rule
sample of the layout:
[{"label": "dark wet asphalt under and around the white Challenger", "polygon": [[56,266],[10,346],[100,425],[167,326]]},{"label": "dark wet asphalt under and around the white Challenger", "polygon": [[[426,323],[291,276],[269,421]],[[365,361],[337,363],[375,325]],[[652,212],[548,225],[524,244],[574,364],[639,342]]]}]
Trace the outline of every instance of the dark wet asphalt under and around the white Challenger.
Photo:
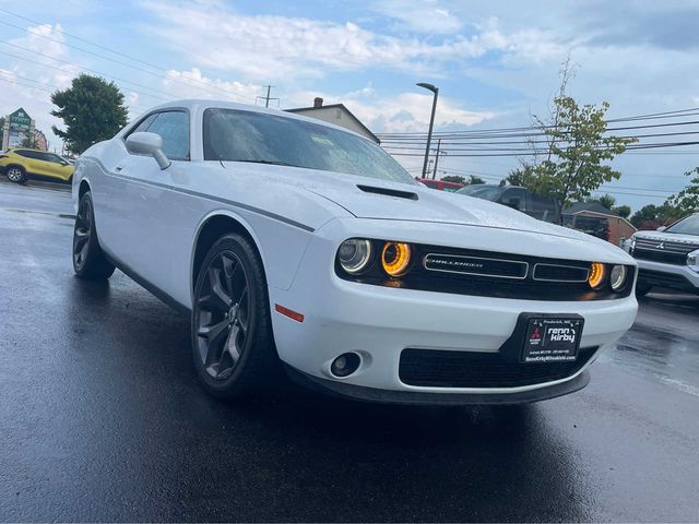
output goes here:
[{"label": "dark wet asphalt under and around the white Challenger", "polygon": [[644,300],[585,390],[535,405],[229,405],[187,319],[72,276],[71,213],[0,182],[0,520],[699,521],[699,297]]}]

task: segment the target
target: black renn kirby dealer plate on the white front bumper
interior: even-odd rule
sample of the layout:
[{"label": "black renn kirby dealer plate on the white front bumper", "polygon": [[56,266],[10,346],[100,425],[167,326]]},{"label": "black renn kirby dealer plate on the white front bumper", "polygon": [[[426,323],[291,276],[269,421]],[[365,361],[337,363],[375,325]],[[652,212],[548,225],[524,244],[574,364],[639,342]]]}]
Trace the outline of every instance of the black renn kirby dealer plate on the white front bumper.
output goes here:
[{"label": "black renn kirby dealer plate on the white front bumper", "polygon": [[571,362],[578,356],[582,325],[579,318],[529,319],[522,362]]}]

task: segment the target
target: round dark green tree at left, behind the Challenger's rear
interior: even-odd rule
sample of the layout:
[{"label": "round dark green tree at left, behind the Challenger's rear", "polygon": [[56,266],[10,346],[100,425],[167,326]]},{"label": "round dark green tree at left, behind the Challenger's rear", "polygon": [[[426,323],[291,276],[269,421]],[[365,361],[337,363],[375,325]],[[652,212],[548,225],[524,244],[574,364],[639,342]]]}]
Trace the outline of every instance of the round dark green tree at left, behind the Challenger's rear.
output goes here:
[{"label": "round dark green tree at left, behind the Challenger's rear", "polygon": [[63,139],[70,153],[81,154],[96,142],[110,139],[127,123],[128,111],[123,94],[114,82],[81,74],[71,86],[51,94],[58,110],[51,115],[66,123],[62,131],[54,126],[54,133]]}]

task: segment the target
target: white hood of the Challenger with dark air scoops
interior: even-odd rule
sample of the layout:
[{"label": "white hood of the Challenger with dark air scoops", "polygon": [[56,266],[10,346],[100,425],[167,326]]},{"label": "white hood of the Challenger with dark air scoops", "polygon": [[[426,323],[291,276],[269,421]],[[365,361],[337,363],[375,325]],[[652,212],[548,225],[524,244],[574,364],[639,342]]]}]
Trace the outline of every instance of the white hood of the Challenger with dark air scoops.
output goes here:
[{"label": "white hood of the Challenger with dark air scoops", "polygon": [[[379,228],[389,226],[393,221],[396,223],[423,223],[431,225],[429,230],[441,230],[447,235],[447,230],[455,234],[454,226],[470,226],[481,229],[478,235],[484,238],[493,236],[486,233],[487,229],[500,229],[511,231],[507,238],[512,241],[516,238],[519,241],[522,238],[528,238],[526,242],[530,245],[536,245],[535,237],[544,235],[546,241],[543,245],[546,250],[550,249],[550,246],[555,246],[558,238],[566,239],[565,245],[570,249],[568,250],[569,255],[564,258],[581,257],[576,253],[589,253],[593,249],[600,254],[606,253],[609,260],[617,260],[619,255],[623,255],[621,260],[628,263],[633,262],[633,259],[616,246],[591,235],[537,221],[505,205],[465,194],[437,191],[417,183],[390,182],[313,169],[237,162],[223,162],[222,164],[227,169],[250,175],[256,184],[268,188],[280,199],[283,198],[286,186],[289,195],[292,192],[312,195],[325,204],[339,206],[346,217],[377,221],[382,224],[382,226],[377,224]],[[335,214],[334,217],[340,216],[340,214]],[[435,228],[435,226],[442,224],[449,227]],[[422,230],[422,228],[413,229],[414,231]],[[520,231],[521,235],[518,235]],[[464,230],[462,234],[466,234],[466,231]],[[453,238],[461,236],[461,234],[457,234]],[[438,235],[431,240],[449,245],[448,238],[445,238],[443,241],[439,238],[441,237]],[[540,237],[540,240],[544,240],[544,238]]]}]

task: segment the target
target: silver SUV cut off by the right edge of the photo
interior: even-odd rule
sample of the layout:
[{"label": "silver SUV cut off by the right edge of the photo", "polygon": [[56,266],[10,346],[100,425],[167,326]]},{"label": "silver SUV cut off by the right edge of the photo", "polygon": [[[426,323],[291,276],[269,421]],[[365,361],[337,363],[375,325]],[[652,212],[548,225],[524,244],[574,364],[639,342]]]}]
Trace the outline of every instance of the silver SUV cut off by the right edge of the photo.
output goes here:
[{"label": "silver SUV cut off by the right edge of the photo", "polygon": [[699,213],[655,231],[638,231],[626,243],[638,261],[636,295],[651,289],[699,294]]}]

